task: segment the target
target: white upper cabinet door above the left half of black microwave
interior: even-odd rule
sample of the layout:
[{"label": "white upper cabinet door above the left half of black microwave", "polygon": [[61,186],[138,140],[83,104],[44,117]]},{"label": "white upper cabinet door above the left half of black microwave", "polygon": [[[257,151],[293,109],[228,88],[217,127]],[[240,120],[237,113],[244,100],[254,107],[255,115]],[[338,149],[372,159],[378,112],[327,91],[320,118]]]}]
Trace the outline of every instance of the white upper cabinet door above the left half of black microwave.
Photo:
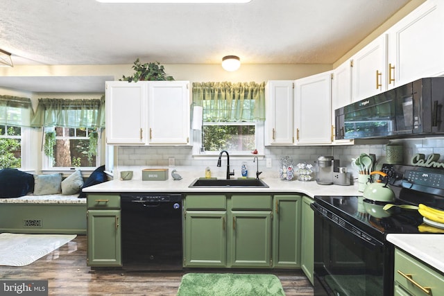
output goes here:
[{"label": "white upper cabinet door above the left half of black microwave", "polygon": [[353,55],[353,101],[359,101],[386,91],[386,40],[386,34],[381,35]]}]

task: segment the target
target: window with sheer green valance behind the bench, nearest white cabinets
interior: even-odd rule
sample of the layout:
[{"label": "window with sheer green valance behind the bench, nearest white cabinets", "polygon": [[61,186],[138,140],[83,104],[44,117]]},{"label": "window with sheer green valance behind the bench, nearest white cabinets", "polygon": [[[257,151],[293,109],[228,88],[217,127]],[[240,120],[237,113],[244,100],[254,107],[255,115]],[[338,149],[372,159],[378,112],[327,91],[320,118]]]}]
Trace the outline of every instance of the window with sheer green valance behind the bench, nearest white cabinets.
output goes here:
[{"label": "window with sheer green valance behind the bench, nearest white cabinets", "polygon": [[91,168],[100,163],[105,98],[40,98],[33,126],[44,130],[44,169]]}]

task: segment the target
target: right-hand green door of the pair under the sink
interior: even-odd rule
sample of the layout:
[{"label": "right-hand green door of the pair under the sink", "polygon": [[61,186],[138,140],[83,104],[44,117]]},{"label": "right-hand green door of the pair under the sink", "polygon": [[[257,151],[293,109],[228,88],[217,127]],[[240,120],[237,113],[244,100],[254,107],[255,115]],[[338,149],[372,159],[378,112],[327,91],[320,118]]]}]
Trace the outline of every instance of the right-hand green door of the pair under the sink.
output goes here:
[{"label": "right-hand green door of the pair under the sink", "polygon": [[230,265],[271,267],[271,211],[231,211]]}]

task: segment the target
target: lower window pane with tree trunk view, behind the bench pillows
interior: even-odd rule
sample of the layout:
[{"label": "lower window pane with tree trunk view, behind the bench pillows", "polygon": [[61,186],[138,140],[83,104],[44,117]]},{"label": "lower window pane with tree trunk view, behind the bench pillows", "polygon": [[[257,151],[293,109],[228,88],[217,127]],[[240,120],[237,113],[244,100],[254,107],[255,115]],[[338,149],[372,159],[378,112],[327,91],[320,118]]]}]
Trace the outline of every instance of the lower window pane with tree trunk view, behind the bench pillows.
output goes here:
[{"label": "lower window pane with tree trunk view, behind the bench pillows", "polygon": [[89,139],[57,139],[56,146],[54,146],[53,166],[94,166],[96,163],[95,153],[89,155],[88,150]]}]

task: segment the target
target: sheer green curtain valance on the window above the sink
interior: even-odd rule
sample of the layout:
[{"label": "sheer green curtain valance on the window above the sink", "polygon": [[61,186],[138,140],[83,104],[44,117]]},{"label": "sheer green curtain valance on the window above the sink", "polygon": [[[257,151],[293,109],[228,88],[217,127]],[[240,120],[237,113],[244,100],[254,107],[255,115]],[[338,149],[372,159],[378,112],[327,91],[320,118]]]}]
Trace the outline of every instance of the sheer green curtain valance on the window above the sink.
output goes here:
[{"label": "sheer green curtain valance on the window above the sink", "polygon": [[193,82],[193,103],[205,122],[265,120],[265,82]]}]

